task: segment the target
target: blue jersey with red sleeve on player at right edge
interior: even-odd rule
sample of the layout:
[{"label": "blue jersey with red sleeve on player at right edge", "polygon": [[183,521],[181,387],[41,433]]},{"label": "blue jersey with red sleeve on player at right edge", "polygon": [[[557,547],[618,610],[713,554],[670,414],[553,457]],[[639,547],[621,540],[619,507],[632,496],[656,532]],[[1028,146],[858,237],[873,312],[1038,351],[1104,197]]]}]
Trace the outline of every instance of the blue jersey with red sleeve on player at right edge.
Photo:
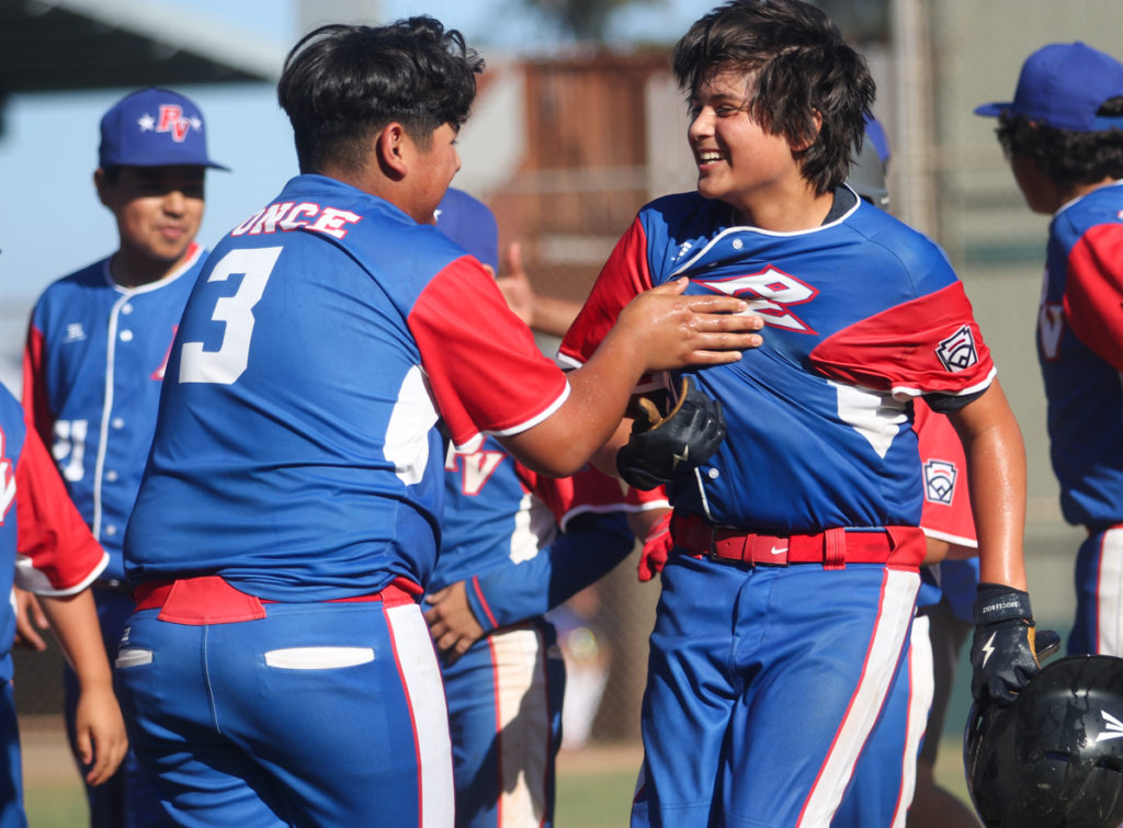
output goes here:
[{"label": "blue jersey with red sleeve on player at right edge", "polygon": [[1053,470],[1070,524],[1123,522],[1123,182],[1065,204],[1049,228],[1038,356]]}]

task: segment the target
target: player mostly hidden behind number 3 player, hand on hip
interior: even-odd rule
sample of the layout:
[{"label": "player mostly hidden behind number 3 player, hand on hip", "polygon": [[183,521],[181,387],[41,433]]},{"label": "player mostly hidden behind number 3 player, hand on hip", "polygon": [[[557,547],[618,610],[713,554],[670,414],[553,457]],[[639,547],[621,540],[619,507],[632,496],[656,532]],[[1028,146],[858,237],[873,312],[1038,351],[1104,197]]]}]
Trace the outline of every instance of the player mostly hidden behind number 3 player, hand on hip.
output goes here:
[{"label": "player mostly hidden behind number 3 player, hand on hip", "polygon": [[[483,202],[450,188],[436,224],[499,271]],[[567,675],[542,616],[631,552],[623,489],[592,467],[537,474],[494,437],[468,454],[450,449],[445,473],[426,618],[442,654],[456,824],[550,826]]]}]

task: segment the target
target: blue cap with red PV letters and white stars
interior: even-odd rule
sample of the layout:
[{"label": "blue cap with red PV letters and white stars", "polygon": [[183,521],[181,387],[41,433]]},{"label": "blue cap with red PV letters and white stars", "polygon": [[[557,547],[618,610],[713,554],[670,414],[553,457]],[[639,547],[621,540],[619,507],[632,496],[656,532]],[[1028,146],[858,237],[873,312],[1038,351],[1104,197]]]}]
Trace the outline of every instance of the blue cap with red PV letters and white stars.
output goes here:
[{"label": "blue cap with red PV letters and white stars", "polygon": [[125,95],[101,117],[98,164],[229,170],[207,155],[207,128],[199,107],[179,92],[155,87]]}]

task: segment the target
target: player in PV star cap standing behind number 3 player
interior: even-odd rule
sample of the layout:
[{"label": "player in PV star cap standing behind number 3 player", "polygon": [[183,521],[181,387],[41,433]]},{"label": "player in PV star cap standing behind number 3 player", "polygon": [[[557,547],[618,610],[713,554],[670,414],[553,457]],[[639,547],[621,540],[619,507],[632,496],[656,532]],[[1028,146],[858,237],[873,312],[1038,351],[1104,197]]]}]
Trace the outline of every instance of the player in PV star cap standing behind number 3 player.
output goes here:
[{"label": "player in PV star cap standing behind number 3 player", "polygon": [[[125,95],[101,119],[98,197],[117,220],[112,255],[51,284],[31,313],[24,353],[27,421],[51,446],[71,499],[109,565],[93,583],[112,656],[134,602],[121,542],[156,427],[164,370],[188,293],[202,269],[194,240],[208,167],[202,112],[166,89]],[[65,672],[74,738],[74,674]],[[88,788],[93,826],[163,825],[131,755]]]}]

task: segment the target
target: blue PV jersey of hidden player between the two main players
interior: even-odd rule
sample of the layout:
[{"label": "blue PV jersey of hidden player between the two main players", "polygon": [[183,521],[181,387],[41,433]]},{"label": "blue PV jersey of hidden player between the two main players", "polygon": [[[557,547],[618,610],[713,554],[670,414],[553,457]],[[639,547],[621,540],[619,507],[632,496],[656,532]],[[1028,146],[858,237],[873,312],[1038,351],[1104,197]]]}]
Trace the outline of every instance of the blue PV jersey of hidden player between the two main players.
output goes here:
[{"label": "blue PV jersey of hidden player between the two main players", "polygon": [[467,581],[468,602],[494,629],[545,613],[628,556],[626,492],[586,466],[549,477],[494,439],[472,454],[449,452],[441,545],[430,590]]}]

